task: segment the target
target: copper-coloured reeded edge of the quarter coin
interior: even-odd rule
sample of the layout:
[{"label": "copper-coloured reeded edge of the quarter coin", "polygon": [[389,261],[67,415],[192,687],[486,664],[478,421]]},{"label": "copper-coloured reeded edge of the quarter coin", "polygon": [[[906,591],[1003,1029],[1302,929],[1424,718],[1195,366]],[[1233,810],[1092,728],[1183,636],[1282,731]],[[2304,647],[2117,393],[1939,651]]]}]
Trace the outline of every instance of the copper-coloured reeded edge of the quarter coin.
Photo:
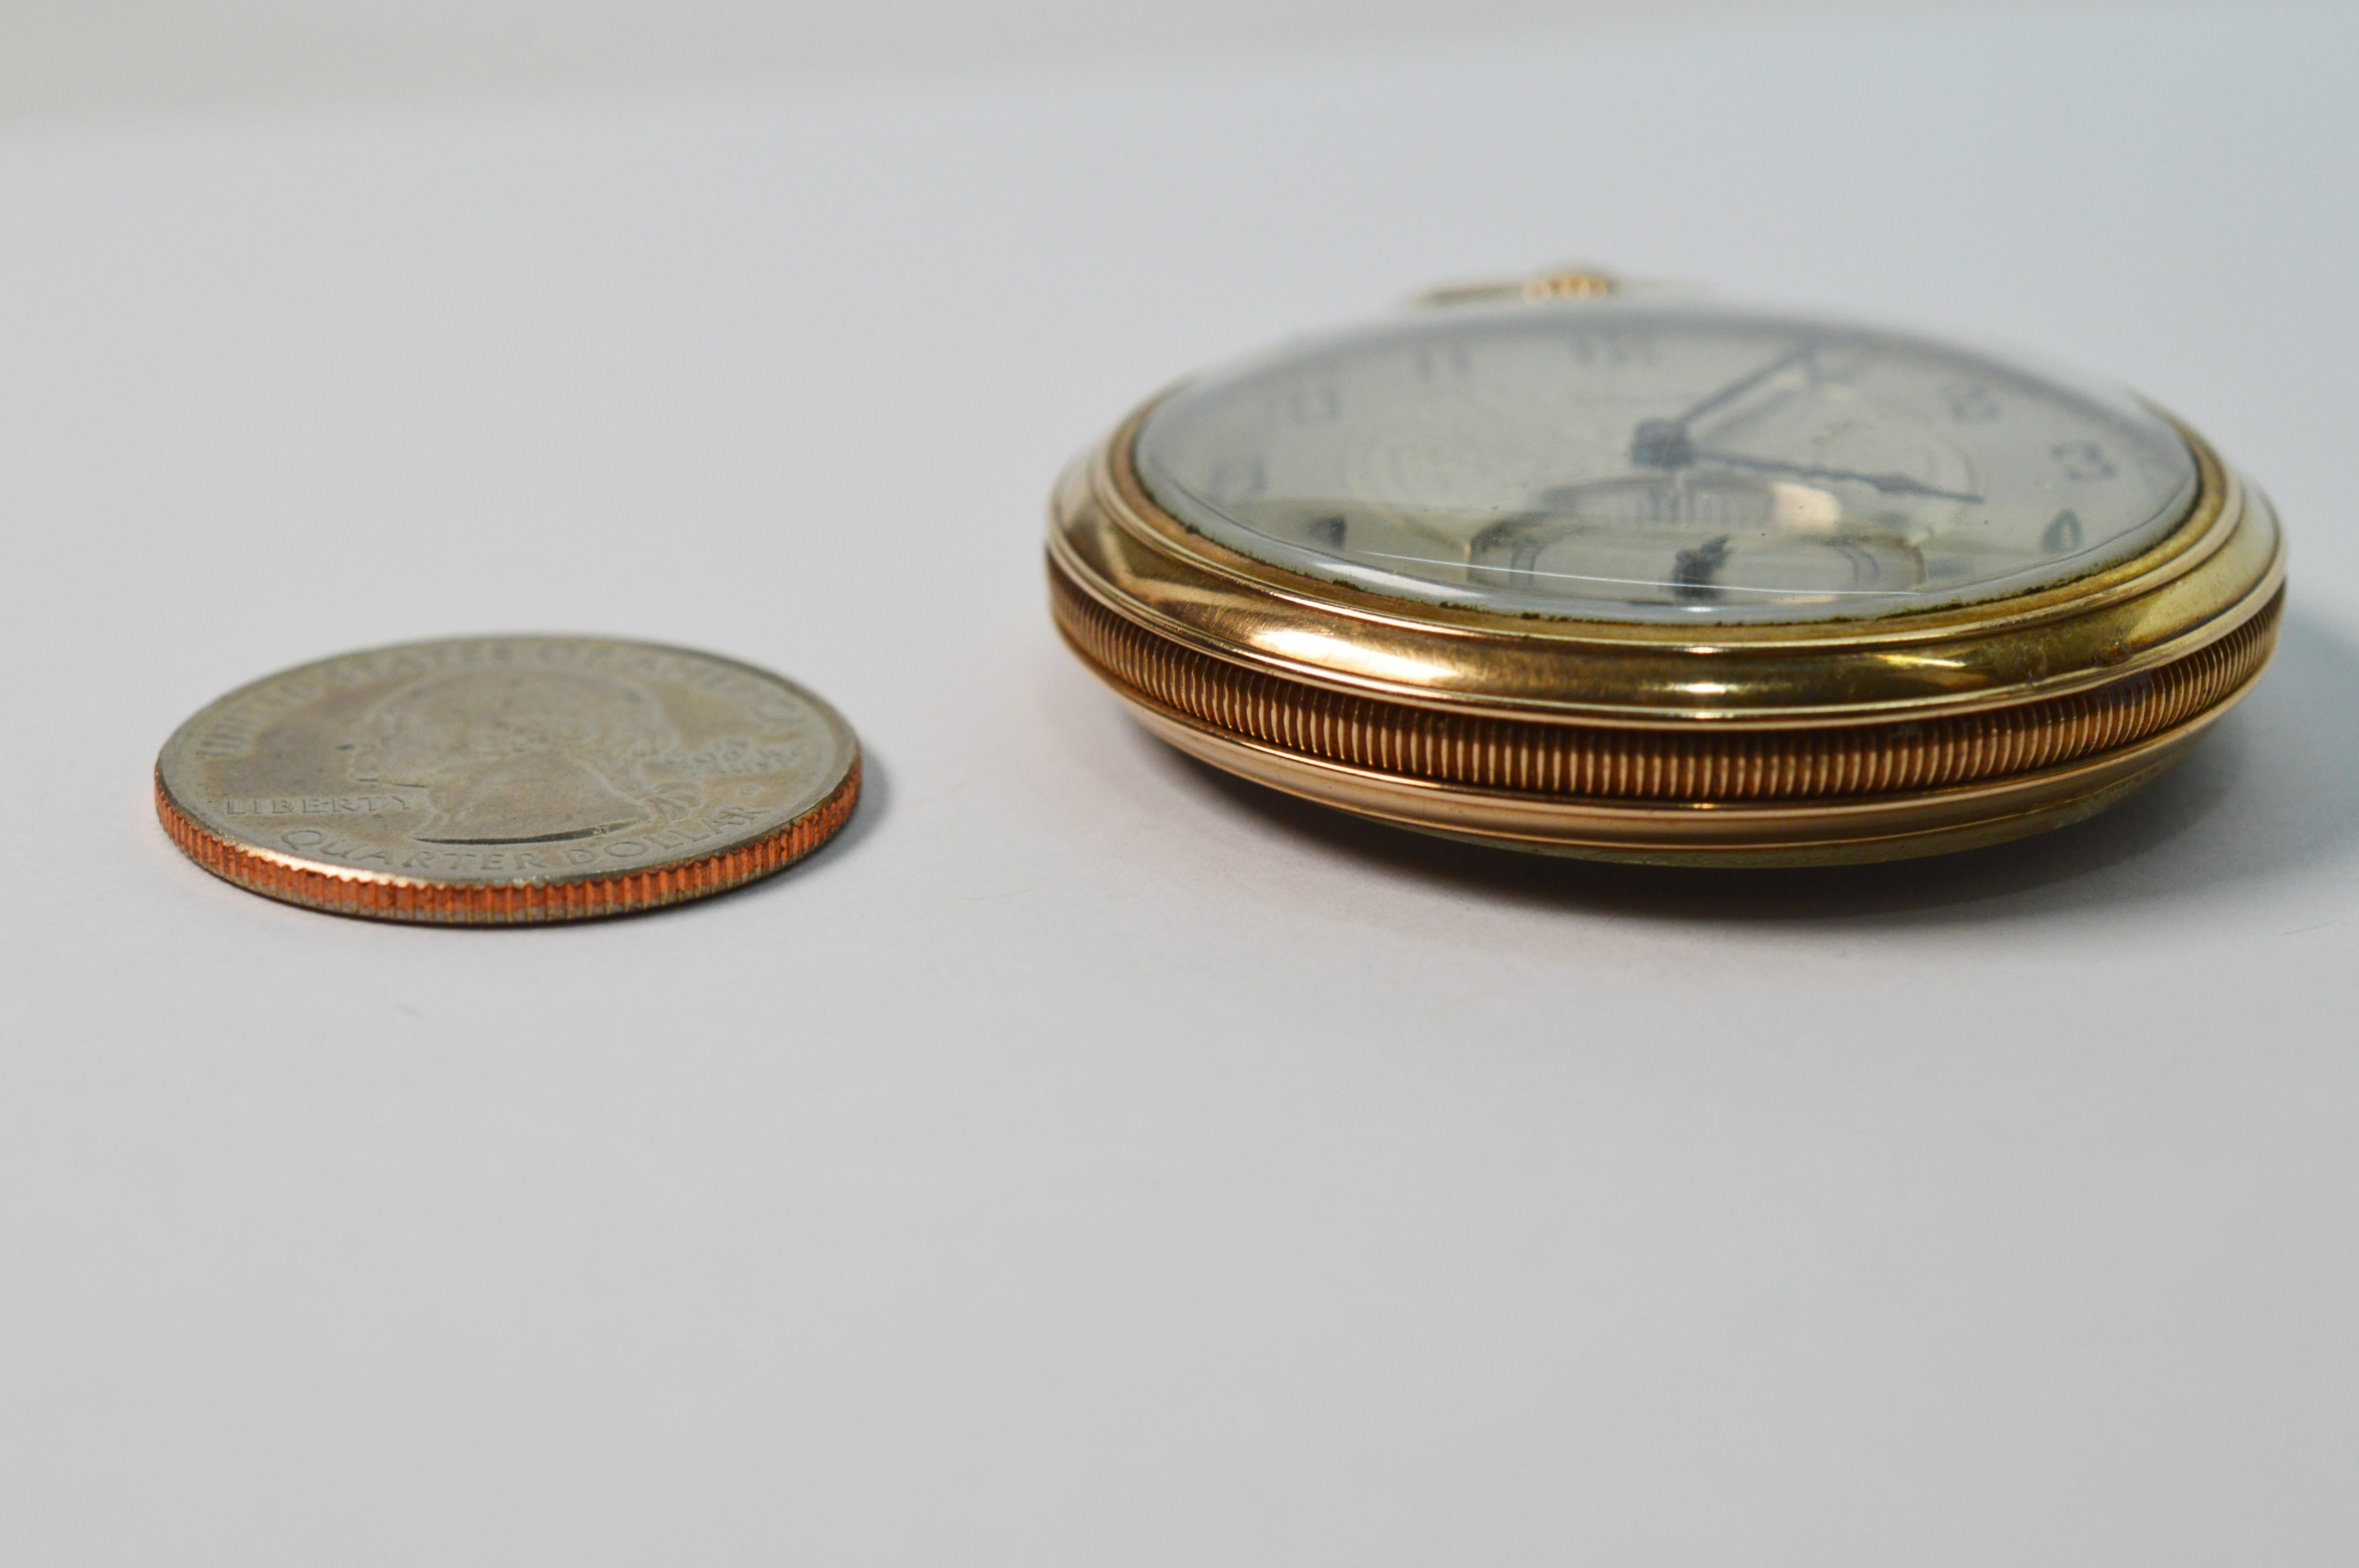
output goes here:
[{"label": "copper-coloured reeded edge of the quarter coin", "polygon": [[455,884],[333,868],[238,844],[182,811],[163,783],[163,769],[156,771],[156,821],[182,854],[215,877],[309,910],[415,924],[597,920],[722,894],[781,872],[826,844],[852,821],[859,799],[861,752],[854,747],[852,766],[816,806],[750,844],[606,877]]}]

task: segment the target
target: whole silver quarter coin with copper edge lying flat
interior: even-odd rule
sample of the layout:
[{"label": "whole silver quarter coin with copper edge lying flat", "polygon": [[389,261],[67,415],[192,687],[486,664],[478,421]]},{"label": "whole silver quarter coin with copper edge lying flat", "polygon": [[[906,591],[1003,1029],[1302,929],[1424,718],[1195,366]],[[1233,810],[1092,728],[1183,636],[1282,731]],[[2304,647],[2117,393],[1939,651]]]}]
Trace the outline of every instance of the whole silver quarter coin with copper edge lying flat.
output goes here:
[{"label": "whole silver quarter coin with copper edge lying flat", "polygon": [[212,703],[156,759],[198,865],[271,898],[462,924],[677,903],[781,870],[859,799],[816,696],[710,653],[484,637],[347,653]]}]

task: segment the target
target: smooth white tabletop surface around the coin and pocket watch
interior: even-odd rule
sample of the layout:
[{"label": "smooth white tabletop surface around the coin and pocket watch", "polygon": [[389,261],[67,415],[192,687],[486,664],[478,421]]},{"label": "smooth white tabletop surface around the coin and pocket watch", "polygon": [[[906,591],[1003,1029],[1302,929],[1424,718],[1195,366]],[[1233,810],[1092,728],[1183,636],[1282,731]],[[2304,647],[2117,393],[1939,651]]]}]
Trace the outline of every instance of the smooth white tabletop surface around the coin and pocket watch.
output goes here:
[{"label": "smooth white tabletop surface around the coin and pocket watch", "polygon": [[[0,137],[0,1559],[2340,1563],[2359,24],[896,66]],[[2293,531],[2085,828],[1668,875],[1293,806],[1054,641],[1189,365],[1566,255],[2029,344]],[[852,830],[432,931],[184,863],[326,653],[708,646]]]}]

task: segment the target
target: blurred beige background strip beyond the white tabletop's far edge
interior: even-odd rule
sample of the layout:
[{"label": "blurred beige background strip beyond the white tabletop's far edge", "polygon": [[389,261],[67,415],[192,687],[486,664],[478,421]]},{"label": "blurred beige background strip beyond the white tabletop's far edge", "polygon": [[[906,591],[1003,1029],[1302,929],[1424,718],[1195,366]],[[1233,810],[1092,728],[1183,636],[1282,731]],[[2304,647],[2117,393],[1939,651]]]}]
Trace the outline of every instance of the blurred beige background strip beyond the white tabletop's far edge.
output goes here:
[{"label": "blurred beige background strip beyond the white tabletop's far edge", "polygon": [[0,123],[776,83],[911,64],[1201,61],[1272,45],[1937,7],[1944,0],[0,0]]}]

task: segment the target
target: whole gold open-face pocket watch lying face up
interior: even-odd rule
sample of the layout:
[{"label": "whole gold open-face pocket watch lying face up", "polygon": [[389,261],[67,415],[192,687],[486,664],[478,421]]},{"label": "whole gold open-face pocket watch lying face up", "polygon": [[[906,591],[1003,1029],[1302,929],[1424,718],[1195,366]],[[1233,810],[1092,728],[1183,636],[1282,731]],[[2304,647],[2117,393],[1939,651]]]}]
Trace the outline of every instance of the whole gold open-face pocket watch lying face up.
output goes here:
[{"label": "whole gold open-face pocket watch lying face up", "polygon": [[2151,783],[2260,677],[2269,502],[2125,391],[1590,271],[1180,382],[1059,481],[1057,627],[1262,785],[1614,861],[1885,861]]}]

